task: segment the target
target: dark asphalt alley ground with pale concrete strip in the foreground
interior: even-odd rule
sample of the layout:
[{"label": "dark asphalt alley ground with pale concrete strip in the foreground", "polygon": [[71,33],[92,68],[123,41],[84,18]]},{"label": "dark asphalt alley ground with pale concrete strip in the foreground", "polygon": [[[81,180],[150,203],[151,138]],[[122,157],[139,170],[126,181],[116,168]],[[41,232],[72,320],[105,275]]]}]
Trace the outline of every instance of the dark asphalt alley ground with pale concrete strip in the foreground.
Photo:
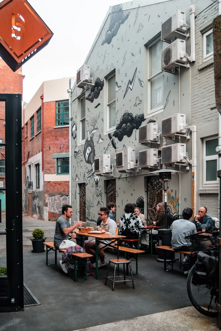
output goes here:
[{"label": "dark asphalt alley ground with pale concrete strip in the foreground", "polygon": [[[105,279],[96,280],[93,276],[87,281],[74,282],[73,271],[65,274],[61,269],[61,253],[58,253],[57,265],[46,266],[45,252],[31,252],[30,238],[36,227],[45,231],[46,241],[52,241],[55,222],[23,217],[24,282],[41,305],[1,313],[0,331],[106,330],[109,327],[112,330],[218,330],[216,318],[203,316],[189,307],[186,278],[179,262],[174,263],[174,271],[164,272],[164,265],[156,261],[156,255],[139,257],[135,289],[131,282],[116,283],[112,291],[111,281],[105,286]],[[3,246],[1,241],[0,265],[6,260]],[[114,253],[107,253],[106,262],[114,257]],[[176,258],[179,257],[176,253]],[[53,254],[51,263],[52,260]],[[132,269],[135,270],[134,262]],[[107,266],[99,272],[105,276]]]}]

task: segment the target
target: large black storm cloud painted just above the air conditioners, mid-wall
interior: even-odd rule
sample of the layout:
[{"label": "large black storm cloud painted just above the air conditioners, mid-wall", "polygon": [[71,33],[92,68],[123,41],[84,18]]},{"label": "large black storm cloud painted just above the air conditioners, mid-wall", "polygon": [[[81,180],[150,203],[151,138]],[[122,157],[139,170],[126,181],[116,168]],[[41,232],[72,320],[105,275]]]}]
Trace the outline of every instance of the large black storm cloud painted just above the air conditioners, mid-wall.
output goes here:
[{"label": "large black storm cloud painted just above the air conditioners, mid-wall", "polygon": [[124,136],[130,137],[133,130],[138,130],[143,121],[144,114],[135,115],[133,117],[133,114],[126,111],[120,118],[120,122],[116,126],[113,137],[116,137],[119,141],[122,141]]}]

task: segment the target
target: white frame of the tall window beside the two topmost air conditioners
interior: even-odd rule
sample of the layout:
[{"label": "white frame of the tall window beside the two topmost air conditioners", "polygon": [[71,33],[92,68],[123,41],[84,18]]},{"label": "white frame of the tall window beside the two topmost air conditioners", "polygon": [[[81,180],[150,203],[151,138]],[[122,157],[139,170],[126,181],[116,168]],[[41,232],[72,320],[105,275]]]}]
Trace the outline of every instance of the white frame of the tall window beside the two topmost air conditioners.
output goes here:
[{"label": "white frame of the tall window beside the two topmost air conditioners", "polygon": [[[155,73],[154,75],[151,76],[151,47],[154,46],[156,43],[158,42],[162,42],[162,46],[163,46],[163,41],[161,41],[160,38],[155,39],[149,46],[148,46],[148,114],[152,114],[155,112],[158,112],[160,110],[163,110],[164,105],[162,103],[162,105],[160,105],[159,107],[153,108],[151,109],[151,80],[153,78],[156,78],[160,75],[163,76],[163,71],[162,69],[159,70],[157,73]],[[162,47],[163,49],[163,47]],[[161,61],[161,54],[160,54],[160,61]],[[163,91],[162,91],[163,93]]]}]

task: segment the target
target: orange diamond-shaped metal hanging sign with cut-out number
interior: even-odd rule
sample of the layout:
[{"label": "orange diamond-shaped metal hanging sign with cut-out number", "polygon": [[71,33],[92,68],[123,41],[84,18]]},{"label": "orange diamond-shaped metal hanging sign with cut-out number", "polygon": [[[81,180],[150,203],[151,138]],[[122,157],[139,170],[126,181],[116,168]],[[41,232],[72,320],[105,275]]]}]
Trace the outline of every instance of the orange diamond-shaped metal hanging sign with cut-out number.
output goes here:
[{"label": "orange diamond-shaped metal hanging sign with cut-out number", "polygon": [[53,32],[27,0],[0,3],[0,56],[16,71],[46,46]]}]

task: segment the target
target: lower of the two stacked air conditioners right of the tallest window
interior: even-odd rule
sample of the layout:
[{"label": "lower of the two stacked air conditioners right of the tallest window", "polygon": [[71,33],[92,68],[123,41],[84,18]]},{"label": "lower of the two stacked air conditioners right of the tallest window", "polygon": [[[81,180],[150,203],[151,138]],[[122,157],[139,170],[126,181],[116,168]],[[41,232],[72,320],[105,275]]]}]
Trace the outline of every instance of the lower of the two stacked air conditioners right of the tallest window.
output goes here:
[{"label": "lower of the two stacked air conditioners right of the tallest window", "polygon": [[171,71],[180,64],[184,65],[186,58],[186,42],[185,40],[177,39],[172,44],[161,51],[161,66],[162,70]]}]

